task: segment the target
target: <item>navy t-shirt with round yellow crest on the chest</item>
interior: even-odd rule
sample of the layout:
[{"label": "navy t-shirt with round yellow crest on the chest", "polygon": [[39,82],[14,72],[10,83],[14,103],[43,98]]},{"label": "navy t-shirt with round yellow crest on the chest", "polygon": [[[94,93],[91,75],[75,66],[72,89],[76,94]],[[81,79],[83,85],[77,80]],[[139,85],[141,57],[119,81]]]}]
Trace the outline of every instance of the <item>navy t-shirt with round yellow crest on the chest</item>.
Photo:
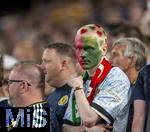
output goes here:
[{"label": "navy t-shirt with round yellow crest on the chest", "polygon": [[68,100],[71,93],[71,87],[68,84],[56,88],[54,92],[49,94],[47,100],[52,111],[57,117],[60,127],[63,124],[63,117],[68,106]]}]

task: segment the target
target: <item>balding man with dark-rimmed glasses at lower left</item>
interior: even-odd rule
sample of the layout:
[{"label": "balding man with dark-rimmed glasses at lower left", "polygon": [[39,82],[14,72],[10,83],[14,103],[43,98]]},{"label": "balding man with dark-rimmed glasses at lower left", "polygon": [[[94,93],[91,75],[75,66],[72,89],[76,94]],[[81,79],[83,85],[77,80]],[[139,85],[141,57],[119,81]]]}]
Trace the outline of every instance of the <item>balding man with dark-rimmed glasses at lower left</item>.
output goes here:
[{"label": "balding man with dark-rimmed glasses at lower left", "polygon": [[[27,122],[21,124],[21,127],[30,126],[31,131],[58,132],[57,119],[44,98],[44,88],[44,72],[34,63],[22,62],[10,72],[8,80],[10,104],[13,107],[19,107],[18,115],[20,114],[24,119],[30,113],[30,118],[27,118]],[[23,112],[20,112],[20,107],[24,108]],[[27,114],[25,110],[28,111]],[[10,126],[7,126],[8,129],[14,130],[14,127],[18,127],[19,121],[20,119],[16,118],[15,123],[12,122]]]}]

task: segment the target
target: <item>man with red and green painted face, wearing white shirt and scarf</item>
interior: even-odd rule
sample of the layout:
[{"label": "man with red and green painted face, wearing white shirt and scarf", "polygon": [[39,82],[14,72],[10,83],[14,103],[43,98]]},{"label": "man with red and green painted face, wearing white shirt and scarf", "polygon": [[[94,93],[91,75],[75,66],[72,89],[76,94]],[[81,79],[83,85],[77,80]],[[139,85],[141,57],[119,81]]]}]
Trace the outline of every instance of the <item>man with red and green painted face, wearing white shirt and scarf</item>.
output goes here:
[{"label": "man with red and green painted face, wearing white shirt and scarf", "polygon": [[[85,70],[72,77],[73,87],[64,116],[65,132],[125,132],[128,118],[130,82],[118,67],[106,58],[107,35],[99,25],[81,27],[75,38],[77,59]],[[81,125],[82,124],[82,125]]]}]

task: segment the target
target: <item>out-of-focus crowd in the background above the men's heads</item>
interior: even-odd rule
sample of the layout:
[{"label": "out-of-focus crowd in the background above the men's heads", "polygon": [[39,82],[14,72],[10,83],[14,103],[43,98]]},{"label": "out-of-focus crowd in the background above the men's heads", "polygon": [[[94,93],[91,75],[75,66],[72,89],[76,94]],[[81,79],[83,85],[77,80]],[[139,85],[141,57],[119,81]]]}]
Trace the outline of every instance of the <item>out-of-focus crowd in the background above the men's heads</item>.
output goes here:
[{"label": "out-of-focus crowd in the background above the men's heads", "polygon": [[0,53],[40,62],[45,44],[74,43],[77,29],[90,23],[105,27],[110,45],[127,23],[149,45],[149,10],[149,0],[0,0]]}]

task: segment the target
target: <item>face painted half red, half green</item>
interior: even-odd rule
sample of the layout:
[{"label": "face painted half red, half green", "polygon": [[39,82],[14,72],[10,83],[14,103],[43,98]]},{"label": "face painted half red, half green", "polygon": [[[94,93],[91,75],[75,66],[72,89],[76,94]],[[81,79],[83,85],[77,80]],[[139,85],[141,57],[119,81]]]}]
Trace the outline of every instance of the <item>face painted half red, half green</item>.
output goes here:
[{"label": "face painted half red, half green", "polygon": [[85,70],[96,67],[102,58],[102,52],[98,47],[96,37],[82,38],[76,43],[76,49],[78,61]]}]

